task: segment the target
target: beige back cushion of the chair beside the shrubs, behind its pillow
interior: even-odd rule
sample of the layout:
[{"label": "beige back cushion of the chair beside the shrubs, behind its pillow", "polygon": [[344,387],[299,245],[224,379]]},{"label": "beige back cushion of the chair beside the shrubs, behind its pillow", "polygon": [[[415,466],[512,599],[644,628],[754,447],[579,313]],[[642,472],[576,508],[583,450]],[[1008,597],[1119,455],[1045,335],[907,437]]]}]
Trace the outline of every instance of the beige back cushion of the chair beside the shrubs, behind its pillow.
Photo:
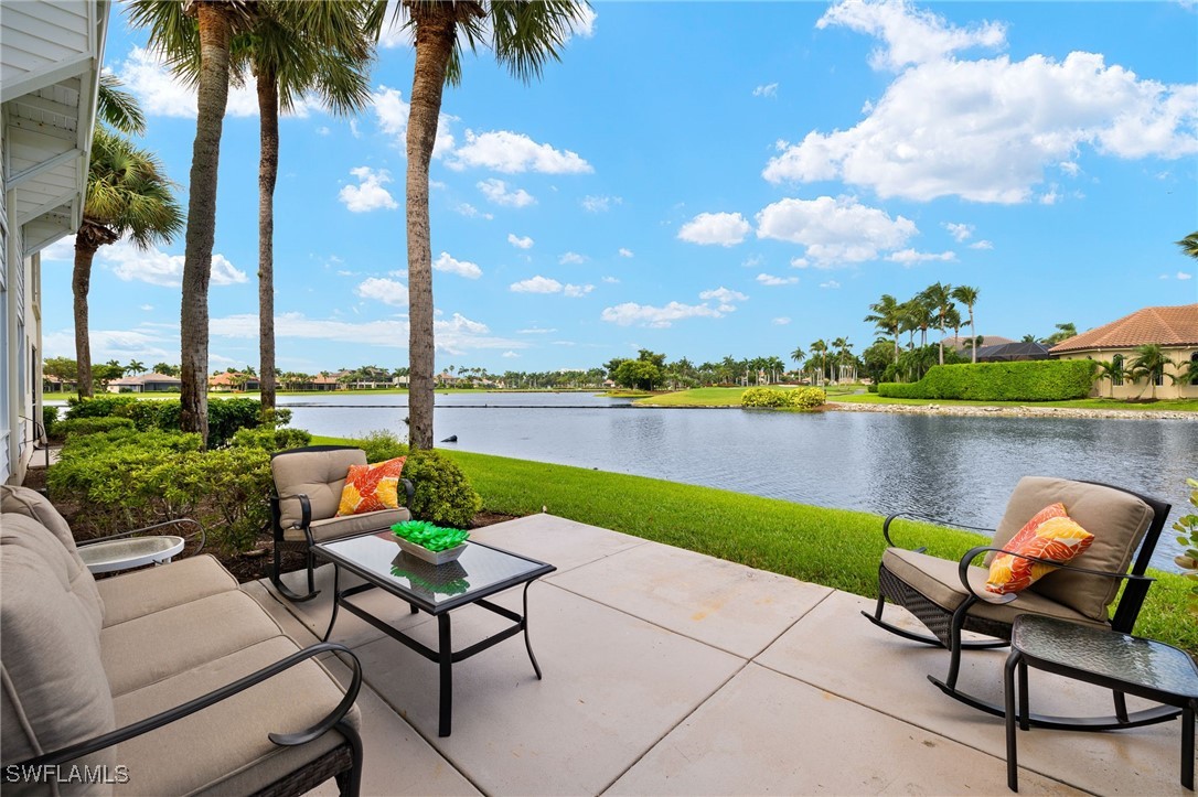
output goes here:
[{"label": "beige back cushion of the chair beside the shrubs, behind its pillow", "polygon": [[[311,503],[311,519],[323,521],[337,515],[350,466],[367,464],[362,449],[332,451],[283,451],[271,460],[274,489],[279,494],[279,523],[291,529],[303,517],[296,495]],[[302,539],[302,535],[301,535]]]}]

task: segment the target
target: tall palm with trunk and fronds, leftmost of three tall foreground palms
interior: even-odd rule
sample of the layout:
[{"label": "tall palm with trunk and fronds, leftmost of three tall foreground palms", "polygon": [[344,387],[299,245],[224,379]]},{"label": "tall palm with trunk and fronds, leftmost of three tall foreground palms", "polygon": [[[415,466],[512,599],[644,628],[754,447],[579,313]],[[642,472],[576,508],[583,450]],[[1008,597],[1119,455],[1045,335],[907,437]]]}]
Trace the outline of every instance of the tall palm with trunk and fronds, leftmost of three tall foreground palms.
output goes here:
[{"label": "tall palm with trunk and fronds, leftmost of three tall foreground palms", "polygon": [[208,281],[220,133],[229,101],[230,43],[249,19],[247,6],[246,0],[133,0],[129,6],[131,22],[150,29],[150,49],[163,53],[171,68],[184,77],[194,71],[199,84],[179,329],[179,422],[182,431],[198,432],[201,440],[208,436]]}]

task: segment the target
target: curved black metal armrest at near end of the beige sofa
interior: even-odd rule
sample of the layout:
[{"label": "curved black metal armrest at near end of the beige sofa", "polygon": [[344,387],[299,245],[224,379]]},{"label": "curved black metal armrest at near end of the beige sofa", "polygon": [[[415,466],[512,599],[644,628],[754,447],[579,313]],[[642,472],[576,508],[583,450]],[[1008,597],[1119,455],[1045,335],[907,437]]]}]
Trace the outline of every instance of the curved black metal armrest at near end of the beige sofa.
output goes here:
[{"label": "curved black metal armrest at near end of the beige sofa", "polygon": [[337,704],[337,707],[333,708],[328,716],[311,728],[295,734],[267,735],[272,742],[283,747],[307,744],[308,742],[319,738],[345,717],[345,714],[350,711],[350,707],[353,705],[353,701],[357,700],[358,689],[362,687],[362,663],[358,661],[358,657],[353,655],[353,651],[339,643],[317,643],[315,645],[310,645],[284,659],[276,662],[274,664],[271,664],[270,667],[264,667],[256,673],[252,673],[243,679],[238,679],[232,683],[220,687],[219,689],[213,689],[212,692],[200,695],[194,700],[188,700],[187,702],[175,706],[174,708],[159,712],[153,717],[146,717],[145,719],[135,722],[132,725],[117,728],[116,730],[103,734],[102,736],[78,742],[53,753],[46,753],[14,765],[5,765],[4,768],[7,768],[8,766],[36,768],[66,763],[67,761],[73,761],[84,755],[90,755],[91,753],[96,753],[97,750],[102,750],[107,747],[120,744],[121,742],[135,738],[143,734],[157,730],[163,725],[169,725],[176,719],[182,719],[183,717],[194,714],[198,711],[202,711],[204,708],[216,705],[222,700],[226,700],[253,686],[261,683],[262,681],[266,681],[267,679],[274,677],[284,670],[291,669],[296,664],[309,659],[313,656],[319,656],[326,651],[345,653],[350,657],[349,663],[353,670],[353,675],[350,681],[350,686],[345,689],[345,696],[339,704]]}]

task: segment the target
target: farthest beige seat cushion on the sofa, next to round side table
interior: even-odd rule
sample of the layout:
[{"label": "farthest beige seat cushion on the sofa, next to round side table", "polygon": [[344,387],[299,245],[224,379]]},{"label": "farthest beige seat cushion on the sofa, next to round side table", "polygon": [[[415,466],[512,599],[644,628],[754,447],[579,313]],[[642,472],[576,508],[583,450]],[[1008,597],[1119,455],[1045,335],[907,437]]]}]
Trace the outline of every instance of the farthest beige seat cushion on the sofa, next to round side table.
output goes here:
[{"label": "farthest beige seat cushion on the sofa, next to round side table", "polygon": [[237,579],[213,556],[176,559],[96,582],[104,627],[237,589]]}]

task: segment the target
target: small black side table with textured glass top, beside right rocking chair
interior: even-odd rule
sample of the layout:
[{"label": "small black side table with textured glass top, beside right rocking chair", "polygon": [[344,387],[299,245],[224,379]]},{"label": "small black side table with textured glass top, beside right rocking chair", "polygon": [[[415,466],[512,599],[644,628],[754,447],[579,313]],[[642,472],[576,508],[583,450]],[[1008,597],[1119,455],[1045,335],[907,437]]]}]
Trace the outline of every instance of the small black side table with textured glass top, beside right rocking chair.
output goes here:
[{"label": "small black side table with textured glass top, beside right rocking chair", "polygon": [[[1016,730],[1028,730],[1028,667],[1112,689],[1121,719],[1125,694],[1181,708],[1181,785],[1194,789],[1194,711],[1198,667],[1182,650],[1117,631],[1033,614],[1015,619],[1003,673],[1006,707],[1006,785],[1018,791]],[[1018,673],[1018,712],[1015,676]]]}]

